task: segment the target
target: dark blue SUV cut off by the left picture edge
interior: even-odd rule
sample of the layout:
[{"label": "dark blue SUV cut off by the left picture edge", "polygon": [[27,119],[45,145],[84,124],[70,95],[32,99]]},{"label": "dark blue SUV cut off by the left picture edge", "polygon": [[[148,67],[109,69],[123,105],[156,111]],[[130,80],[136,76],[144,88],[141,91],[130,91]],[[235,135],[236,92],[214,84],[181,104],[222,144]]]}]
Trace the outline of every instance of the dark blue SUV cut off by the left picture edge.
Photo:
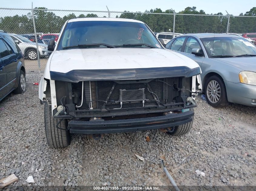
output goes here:
[{"label": "dark blue SUV cut off by the left picture edge", "polygon": [[26,91],[24,56],[8,35],[0,32],[0,101],[12,91]]}]

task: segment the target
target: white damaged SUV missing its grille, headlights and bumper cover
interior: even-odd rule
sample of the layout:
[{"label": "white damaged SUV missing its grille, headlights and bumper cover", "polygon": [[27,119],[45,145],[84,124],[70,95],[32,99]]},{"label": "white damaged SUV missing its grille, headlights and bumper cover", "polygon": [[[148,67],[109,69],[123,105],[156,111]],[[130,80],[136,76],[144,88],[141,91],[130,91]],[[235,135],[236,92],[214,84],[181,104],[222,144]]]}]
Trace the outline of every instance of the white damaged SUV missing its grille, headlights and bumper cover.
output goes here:
[{"label": "white damaged SUV missing its grille, headlights and bumper cover", "polygon": [[201,69],[166,50],[145,23],[71,19],[48,50],[39,99],[50,147],[68,146],[71,133],[97,140],[104,133],[191,129]]}]

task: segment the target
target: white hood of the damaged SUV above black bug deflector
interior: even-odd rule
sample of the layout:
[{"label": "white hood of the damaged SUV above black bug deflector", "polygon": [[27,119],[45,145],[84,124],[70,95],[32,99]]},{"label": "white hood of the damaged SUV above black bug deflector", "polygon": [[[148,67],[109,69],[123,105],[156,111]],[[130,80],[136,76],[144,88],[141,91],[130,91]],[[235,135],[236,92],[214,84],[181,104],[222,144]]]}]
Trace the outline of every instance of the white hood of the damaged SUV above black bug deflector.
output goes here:
[{"label": "white hood of the damaged SUV above black bug deflector", "polygon": [[128,69],[187,66],[197,68],[192,59],[174,51],[150,48],[90,48],[54,51],[50,71]]}]

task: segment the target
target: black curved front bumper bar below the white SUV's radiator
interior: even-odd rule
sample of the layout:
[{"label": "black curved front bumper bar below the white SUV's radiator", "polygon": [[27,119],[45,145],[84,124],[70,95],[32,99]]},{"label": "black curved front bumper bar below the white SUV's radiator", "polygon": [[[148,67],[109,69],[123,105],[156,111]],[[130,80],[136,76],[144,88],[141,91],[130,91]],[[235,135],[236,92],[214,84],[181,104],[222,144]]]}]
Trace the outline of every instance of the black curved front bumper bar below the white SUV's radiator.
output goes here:
[{"label": "black curved front bumper bar below the white SUV's radiator", "polygon": [[161,129],[174,127],[189,123],[192,121],[194,111],[184,113],[173,113],[165,116],[120,119],[120,120],[93,120],[93,121],[75,121],[68,123],[71,133],[78,134],[103,134],[103,133],[120,133],[145,131],[150,129]]}]

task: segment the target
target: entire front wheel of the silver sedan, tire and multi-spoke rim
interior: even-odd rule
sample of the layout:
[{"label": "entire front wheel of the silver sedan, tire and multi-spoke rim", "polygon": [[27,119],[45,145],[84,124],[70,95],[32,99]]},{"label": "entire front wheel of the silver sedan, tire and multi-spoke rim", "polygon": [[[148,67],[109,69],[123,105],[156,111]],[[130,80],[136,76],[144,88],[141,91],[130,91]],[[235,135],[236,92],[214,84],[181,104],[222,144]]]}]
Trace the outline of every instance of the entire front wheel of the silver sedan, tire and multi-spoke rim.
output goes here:
[{"label": "entire front wheel of the silver sedan, tire and multi-spoke rim", "polygon": [[211,76],[206,80],[204,93],[206,100],[212,107],[225,107],[228,105],[226,87],[219,76]]}]

